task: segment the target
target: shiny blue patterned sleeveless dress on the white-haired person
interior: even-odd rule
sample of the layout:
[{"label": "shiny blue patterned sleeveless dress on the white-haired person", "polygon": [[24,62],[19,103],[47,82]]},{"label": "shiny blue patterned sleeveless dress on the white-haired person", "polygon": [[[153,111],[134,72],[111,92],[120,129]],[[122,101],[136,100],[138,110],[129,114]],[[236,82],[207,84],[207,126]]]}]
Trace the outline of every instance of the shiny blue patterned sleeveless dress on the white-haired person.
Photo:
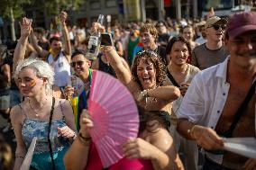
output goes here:
[{"label": "shiny blue patterned sleeveless dress on the white-haired person", "polygon": [[[21,105],[20,107],[22,108]],[[22,136],[27,149],[30,147],[32,139],[37,137],[31,167],[38,170],[52,169],[47,138],[49,122],[30,119],[25,112],[23,114],[25,115],[25,120],[22,125]],[[58,127],[63,126],[66,126],[64,120],[56,120],[51,122],[50,127],[50,141],[56,170],[65,170],[63,157],[70,146],[69,139],[64,139],[58,134]]]}]

